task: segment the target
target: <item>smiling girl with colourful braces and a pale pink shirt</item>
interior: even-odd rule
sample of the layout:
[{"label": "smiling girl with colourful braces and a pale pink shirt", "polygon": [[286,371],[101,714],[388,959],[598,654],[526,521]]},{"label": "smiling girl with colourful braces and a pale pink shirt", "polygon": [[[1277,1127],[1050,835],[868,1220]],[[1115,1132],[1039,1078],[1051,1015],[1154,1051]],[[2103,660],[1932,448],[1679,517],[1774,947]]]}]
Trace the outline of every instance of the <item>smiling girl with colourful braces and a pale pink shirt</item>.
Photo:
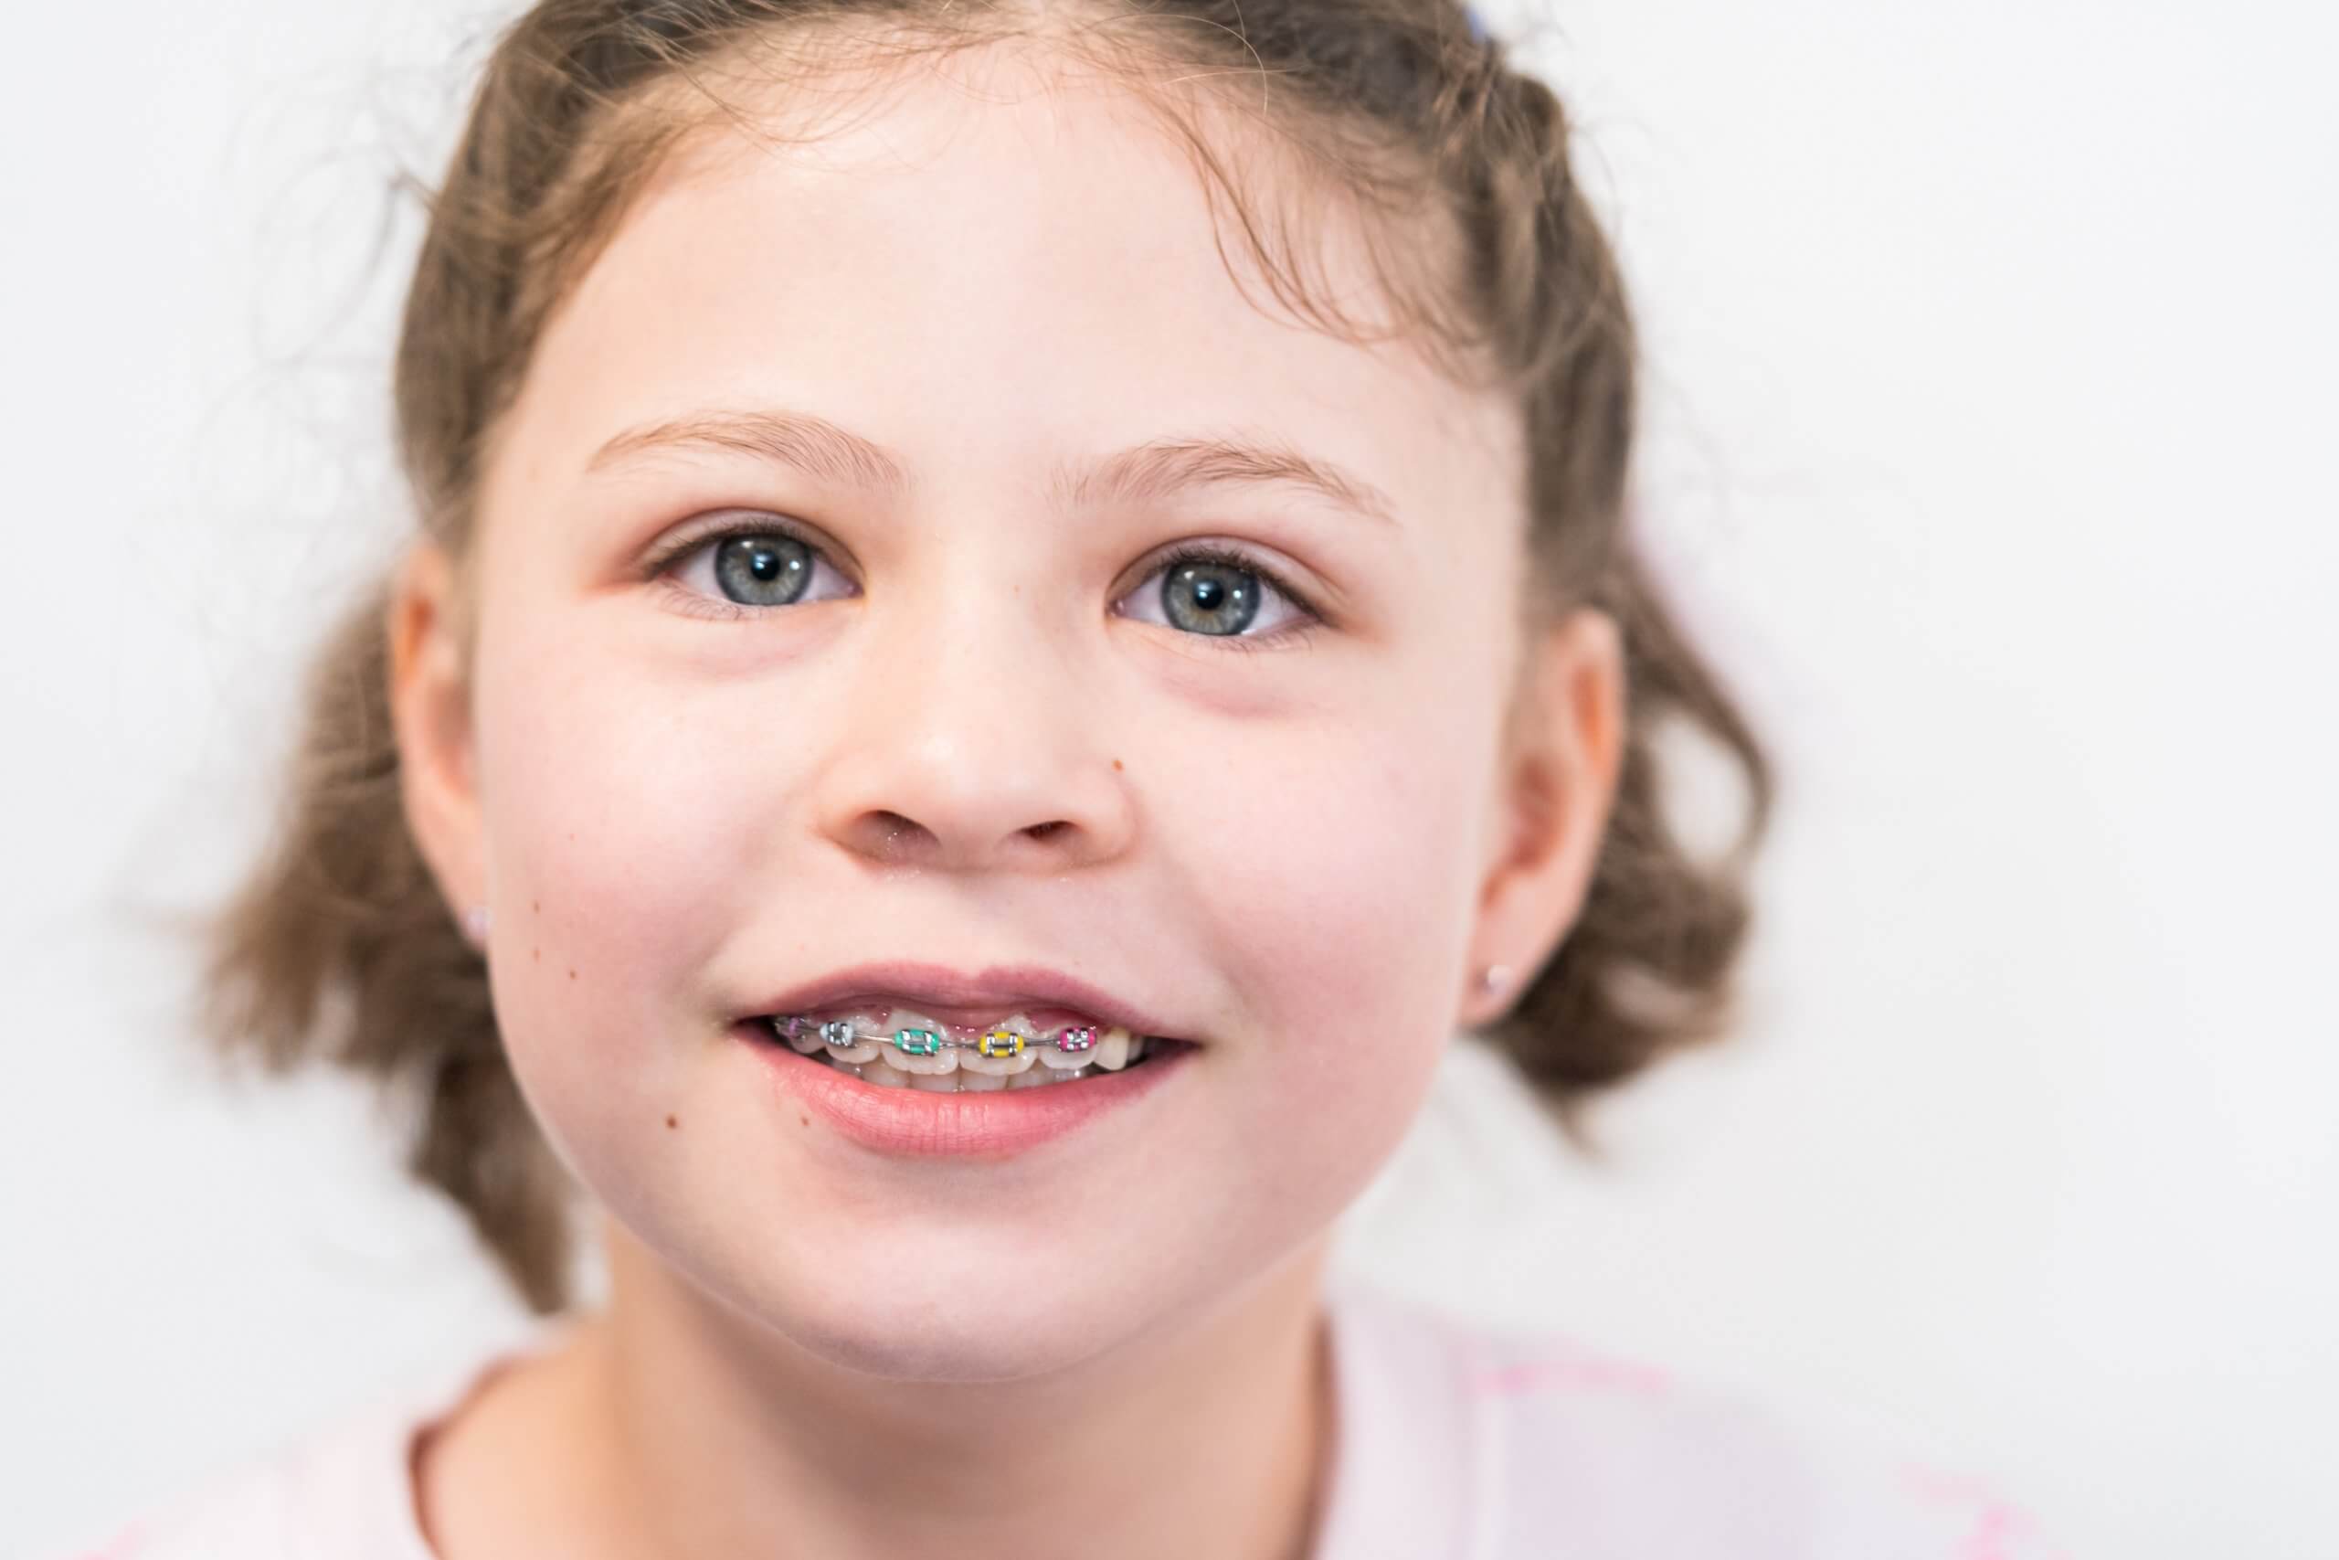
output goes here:
[{"label": "smiling girl with colourful braces and a pale pink shirt", "polygon": [[421,1090],[545,1331],[108,1553],[2023,1553],[1324,1279],[1457,1029],[1565,1102],[1745,929],[1565,140],[1450,0],[522,16],[211,1022]]}]

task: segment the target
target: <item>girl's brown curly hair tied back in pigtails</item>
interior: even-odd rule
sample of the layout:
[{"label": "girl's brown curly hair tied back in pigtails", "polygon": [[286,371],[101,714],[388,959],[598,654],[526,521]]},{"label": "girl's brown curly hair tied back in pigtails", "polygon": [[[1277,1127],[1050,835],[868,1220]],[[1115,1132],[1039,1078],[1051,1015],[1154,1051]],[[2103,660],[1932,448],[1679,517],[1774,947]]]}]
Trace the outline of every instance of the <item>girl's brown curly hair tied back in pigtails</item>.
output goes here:
[{"label": "girl's brown curly hair tied back in pigtails", "polygon": [[[1055,12],[1015,0],[540,0],[496,37],[442,185],[412,185],[428,232],[398,339],[395,430],[419,524],[468,559],[475,486],[547,313],[678,143],[718,122],[748,129],[709,87],[718,70],[812,82],[1034,33],[1172,110],[1212,210],[1233,199],[1277,299],[1326,330],[1357,339],[1354,320],[1310,295],[1284,260],[1289,234],[1261,222],[1165,84],[1205,82],[1212,103],[1254,115],[1317,187],[1366,215],[1434,218],[1429,229],[1366,225],[1410,234],[1371,255],[1396,327],[1455,372],[1492,370],[1525,409],[1520,608],[1534,624],[1602,608],[1626,648],[1630,725],[1591,893],[1483,1031],[1574,1130],[1576,1097],[1724,1027],[1771,772],[1628,536],[1635,330],[1569,166],[1567,115],[1455,0],[1090,0]],[[1422,246],[1420,232],[1441,243]],[[206,919],[201,1024],[225,1057],[278,1071],[323,1059],[412,1090],[412,1174],[454,1197],[531,1310],[552,1312],[568,1300],[571,1186],[505,1062],[484,959],[407,828],[388,599],[384,578],[320,648],[281,828]],[[1679,725],[1745,781],[1745,828],[1719,861],[1693,858],[1668,826],[1661,737]]]}]

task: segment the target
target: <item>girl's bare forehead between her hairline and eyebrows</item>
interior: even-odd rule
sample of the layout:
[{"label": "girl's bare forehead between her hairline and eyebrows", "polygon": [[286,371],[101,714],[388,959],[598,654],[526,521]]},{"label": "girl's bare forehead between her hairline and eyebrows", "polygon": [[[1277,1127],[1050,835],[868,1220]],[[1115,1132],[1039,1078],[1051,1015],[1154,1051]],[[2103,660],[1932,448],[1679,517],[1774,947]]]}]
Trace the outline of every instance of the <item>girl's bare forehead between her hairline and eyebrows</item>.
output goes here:
[{"label": "girl's bare forehead between her hairline and eyebrows", "polygon": [[[538,344],[524,400],[564,442],[788,407],[1006,479],[1242,430],[1415,515],[1457,463],[1509,491],[1511,409],[1401,339],[1338,339],[1279,306],[1235,208],[1125,80],[975,47],[877,84],[730,77],[723,98],[737,112],[667,159]],[[1186,124],[1310,292],[1385,318],[1371,234],[1338,192],[1240,115]]]}]

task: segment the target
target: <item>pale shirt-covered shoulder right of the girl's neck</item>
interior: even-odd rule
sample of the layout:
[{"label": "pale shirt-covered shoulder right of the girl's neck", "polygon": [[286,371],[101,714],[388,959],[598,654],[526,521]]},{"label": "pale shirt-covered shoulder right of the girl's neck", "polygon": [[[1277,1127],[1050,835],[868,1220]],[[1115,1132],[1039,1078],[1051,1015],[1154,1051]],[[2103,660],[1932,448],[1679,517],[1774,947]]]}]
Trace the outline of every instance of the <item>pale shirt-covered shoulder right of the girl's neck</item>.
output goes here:
[{"label": "pale shirt-covered shoulder right of the girl's neck", "polygon": [[[1357,1289],[1336,1307],[1354,1387],[1340,1431],[1359,1462],[1385,1466],[1413,1441],[1427,1480],[1450,1492],[1453,1553],[2068,1560],[2002,1495],[1810,1413],[1555,1331],[1488,1328]],[[1443,1445],[1403,1427],[1434,1427]],[[1361,1532],[1347,1544],[1324,1560],[1380,1553]]]}]

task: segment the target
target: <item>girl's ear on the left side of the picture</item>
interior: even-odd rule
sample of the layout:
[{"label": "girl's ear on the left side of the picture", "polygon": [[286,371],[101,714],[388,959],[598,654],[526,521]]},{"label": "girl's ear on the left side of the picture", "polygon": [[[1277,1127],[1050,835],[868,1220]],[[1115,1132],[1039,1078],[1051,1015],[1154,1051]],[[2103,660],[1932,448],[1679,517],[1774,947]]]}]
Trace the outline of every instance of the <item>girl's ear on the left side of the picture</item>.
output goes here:
[{"label": "girl's ear on the left side of the picture", "polygon": [[407,828],[461,917],[487,903],[472,751],[470,667],[454,561],[416,543],[391,585],[391,723]]}]

